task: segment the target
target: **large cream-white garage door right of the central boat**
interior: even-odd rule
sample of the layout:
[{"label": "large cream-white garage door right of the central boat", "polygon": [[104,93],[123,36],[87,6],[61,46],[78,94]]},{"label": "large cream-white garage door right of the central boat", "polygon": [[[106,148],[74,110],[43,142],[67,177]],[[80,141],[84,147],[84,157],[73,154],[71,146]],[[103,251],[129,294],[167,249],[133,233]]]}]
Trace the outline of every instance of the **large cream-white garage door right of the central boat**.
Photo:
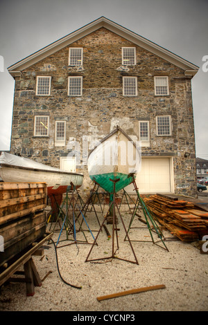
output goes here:
[{"label": "large cream-white garage door right of the central boat", "polygon": [[[142,158],[141,171],[136,178],[139,193],[171,192],[171,160],[170,158]],[[132,192],[132,185],[126,187]]]}]

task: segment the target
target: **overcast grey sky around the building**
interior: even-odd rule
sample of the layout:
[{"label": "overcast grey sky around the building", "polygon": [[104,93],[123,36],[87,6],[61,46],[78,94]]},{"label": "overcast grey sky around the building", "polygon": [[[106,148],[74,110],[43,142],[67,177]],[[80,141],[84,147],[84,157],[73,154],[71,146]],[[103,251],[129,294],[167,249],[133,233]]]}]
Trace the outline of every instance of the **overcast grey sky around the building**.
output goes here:
[{"label": "overcast grey sky around the building", "polygon": [[105,16],[200,67],[192,80],[196,155],[208,160],[207,15],[208,0],[0,0],[0,150],[10,149],[8,66]]}]

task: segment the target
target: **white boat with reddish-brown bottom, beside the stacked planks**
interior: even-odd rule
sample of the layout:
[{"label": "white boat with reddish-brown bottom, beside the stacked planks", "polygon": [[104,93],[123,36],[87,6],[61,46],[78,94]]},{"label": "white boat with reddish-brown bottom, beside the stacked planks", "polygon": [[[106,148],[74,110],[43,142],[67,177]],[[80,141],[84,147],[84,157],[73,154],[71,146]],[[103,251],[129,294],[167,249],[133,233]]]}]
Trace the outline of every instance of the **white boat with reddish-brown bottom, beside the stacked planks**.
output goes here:
[{"label": "white boat with reddish-brown bottom, beside the stacked planks", "polygon": [[46,183],[52,208],[60,205],[62,194],[83,185],[83,174],[64,171],[5,151],[0,156],[0,176],[4,182]]}]

